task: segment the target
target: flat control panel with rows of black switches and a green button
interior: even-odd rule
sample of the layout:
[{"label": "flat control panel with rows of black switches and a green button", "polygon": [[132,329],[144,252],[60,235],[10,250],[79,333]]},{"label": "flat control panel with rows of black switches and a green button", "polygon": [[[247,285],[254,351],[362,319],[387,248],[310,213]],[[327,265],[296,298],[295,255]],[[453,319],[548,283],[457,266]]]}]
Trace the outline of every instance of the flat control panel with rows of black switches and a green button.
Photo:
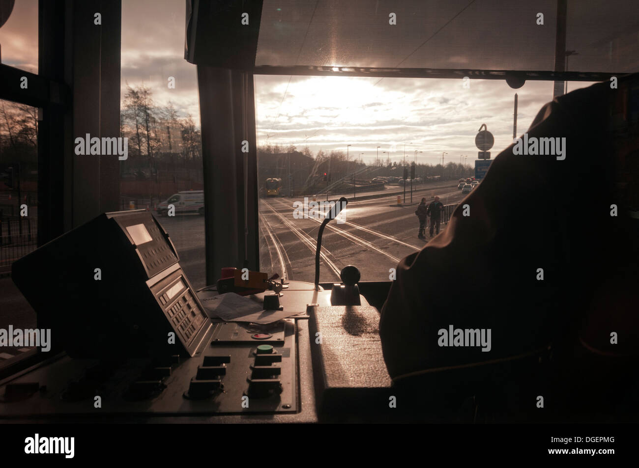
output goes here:
[{"label": "flat control panel with rows of black switches and a green button", "polygon": [[0,416],[298,411],[296,319],[213,321],[196,356],[115,361],[65,354],[0,387]]}]

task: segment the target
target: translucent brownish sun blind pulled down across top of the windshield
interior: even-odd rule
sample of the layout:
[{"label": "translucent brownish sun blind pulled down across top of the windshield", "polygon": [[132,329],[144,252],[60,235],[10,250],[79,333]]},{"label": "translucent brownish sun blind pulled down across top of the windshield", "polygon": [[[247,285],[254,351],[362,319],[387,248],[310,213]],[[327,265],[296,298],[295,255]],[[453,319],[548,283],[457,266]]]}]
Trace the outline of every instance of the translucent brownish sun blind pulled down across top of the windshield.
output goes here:
[{"label": "translucent brownish sun blind pulled down across top of the windshield", "polygon": [[[569,0],[568,70],[639,71],[637,8]],[[265,0],[256,66],[550,71],[556,32],[557,0]]]}]

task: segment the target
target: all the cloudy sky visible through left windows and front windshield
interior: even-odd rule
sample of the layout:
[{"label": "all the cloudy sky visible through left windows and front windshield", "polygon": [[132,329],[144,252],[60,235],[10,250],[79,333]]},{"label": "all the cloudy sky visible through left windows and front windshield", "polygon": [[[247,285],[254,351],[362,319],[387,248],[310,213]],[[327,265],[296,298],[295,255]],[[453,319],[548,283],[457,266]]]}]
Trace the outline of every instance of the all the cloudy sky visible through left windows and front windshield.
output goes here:
[{"label": "all the cloudy sky visible through left windows and front windshield", "polygon": [[[37,72],[36,0],[17,0],[12,17],[0,28],[3,63]],[[171,100],[181,116],[199,122],[196,66],[183,59],[183,0],[122,1],[121,96],[127,84],[151,88],[157,105]],[[167,87],[168,77],[176,87]],[[366,161],[400,161],[414,151],[419,162],[477,157],[475,134],[485,123],[495,135],[493,155],[512,138],[514,93],[519,95],[518,134],[525,132],[541,106],[552,99],[550,82],[527,82],[511,89],[502,80],[390,79],[351,77],[255,78],[258,145],[293,144],[298,149],[340,149]],[[569,90],[589,86],[569,83]],[[388,151],[389,153],[382,153]],[[408,159],[408,157],[407,157]]]}]

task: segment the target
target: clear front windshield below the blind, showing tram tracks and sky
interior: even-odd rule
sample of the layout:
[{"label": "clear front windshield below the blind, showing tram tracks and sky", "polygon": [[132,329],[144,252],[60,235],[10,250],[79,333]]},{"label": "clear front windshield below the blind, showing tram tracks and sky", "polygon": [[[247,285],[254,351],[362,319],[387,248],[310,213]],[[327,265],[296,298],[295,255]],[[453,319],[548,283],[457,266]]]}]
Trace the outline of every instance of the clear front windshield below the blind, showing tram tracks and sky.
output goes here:
[{"label": "clear front windshield below the blind, showing tram tracks and sky", "polygon": [[[481,123],[495,137],[491,157],[512,144],[514,93],[498,80],[473,79],[468,89],[446,79],[258,75],[255,91],[258,180],[279,188],[259,199],[260,270],[289,280],[314,281],[323,204],[346,197],[324,231],[319,278],[339,280],[353,264],[362,281],[388,281],[424,247],[415,236],[422,197],[447,207],[445,230],[472,190]],[[552,100],[553,83],[530,80],[517,93],[521,130]],[[413,163],[413,181],[396,177],[404,167],[412,176]]]}]

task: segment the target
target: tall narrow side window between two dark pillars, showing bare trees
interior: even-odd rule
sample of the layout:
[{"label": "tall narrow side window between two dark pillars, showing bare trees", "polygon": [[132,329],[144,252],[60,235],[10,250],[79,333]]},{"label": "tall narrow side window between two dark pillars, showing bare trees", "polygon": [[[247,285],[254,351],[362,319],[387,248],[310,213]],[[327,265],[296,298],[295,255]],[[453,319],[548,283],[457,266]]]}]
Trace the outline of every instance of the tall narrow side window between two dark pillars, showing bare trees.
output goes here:
[{"label": "tall narrow side window between two dark pillars, showing bare trees", "polygon": [[[128,159],[119,162],[123,209],[133,201],[133,208],[156,216],[180,257],[189,259],[182,268],[197,289],[206,285],[204,216],[189,213],[186,192],[204,190],[204,176],[197,67],[184,59],[184,2],[121,4],[121,136],[128,137]],[[164,216],[164,202],[175,206],[176,216]]]}]

